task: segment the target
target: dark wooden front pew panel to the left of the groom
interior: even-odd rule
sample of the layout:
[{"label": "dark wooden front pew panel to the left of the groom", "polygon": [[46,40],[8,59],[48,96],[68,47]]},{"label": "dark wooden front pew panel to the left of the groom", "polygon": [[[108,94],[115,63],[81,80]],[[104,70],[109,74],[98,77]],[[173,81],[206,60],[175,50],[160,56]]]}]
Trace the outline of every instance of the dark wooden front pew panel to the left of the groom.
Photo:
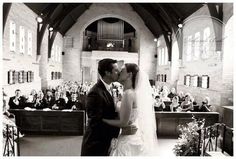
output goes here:
[{"label": "dark wooden front pew panel to the left of the groom", "polygon": [[25,134],[83,135],[85,112],[61,110],[10,109],[15,115],[16,125]]}]

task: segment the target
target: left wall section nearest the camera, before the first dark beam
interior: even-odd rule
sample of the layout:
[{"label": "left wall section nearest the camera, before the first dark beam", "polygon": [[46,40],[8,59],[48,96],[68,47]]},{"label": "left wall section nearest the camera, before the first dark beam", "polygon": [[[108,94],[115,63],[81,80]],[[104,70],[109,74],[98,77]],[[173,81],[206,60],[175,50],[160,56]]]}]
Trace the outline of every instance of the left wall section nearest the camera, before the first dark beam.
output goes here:
[{"label": "left wall section nearest the camera, before the first dark beam", "polygon": [[[36,30],[37,15],[28,7],[20,3],[12,3],[9,11],[5,29],[2,37],[2,87],[8,96],[13,96],[16,89],[21,89],[22,94],[29,94],[32,89],[41,89],[41,79],[39,77],[39,63],[36,61]],[[16,51],[10,51],[10,21],[16,25]],[[25,52],[20,53],[20,26],[25,28]],[[32,32],[32,55],[27,54],[27,32]],[[8,84],[8,71],[33,71],[34,81],[30,83]]]}]

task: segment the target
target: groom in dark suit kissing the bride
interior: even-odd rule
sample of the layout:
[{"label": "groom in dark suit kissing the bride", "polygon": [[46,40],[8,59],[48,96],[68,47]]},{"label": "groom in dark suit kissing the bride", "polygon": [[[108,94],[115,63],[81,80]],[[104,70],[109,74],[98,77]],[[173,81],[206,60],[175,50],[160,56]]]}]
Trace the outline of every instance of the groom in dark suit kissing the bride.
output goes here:
[{"label": "groom in dark suit kissing the bride", "polygon": [[86,98],[88,125],[83,136],[81,156],[108,156],[112,138],[119,135],[120,128],[102,121],[118,118],[110,90],[112,82],[118,80],[117,61],[103,59],[98,63],[100,80],[91,88]]}]

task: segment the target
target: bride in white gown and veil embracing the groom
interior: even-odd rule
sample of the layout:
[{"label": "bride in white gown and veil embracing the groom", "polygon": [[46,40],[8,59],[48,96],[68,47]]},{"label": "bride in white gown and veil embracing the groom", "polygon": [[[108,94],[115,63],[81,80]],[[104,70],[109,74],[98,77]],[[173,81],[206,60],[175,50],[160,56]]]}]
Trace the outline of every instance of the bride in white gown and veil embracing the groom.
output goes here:
[{"label": "bride in white gown and veil embracing the groom", "polygon": [[120,119],[103,121],[121,128],[110,146],[111,156],[157,155],[156,120],[151,86],[147,75],[136,64],[125,64],[119,80],[124,86]]}]

